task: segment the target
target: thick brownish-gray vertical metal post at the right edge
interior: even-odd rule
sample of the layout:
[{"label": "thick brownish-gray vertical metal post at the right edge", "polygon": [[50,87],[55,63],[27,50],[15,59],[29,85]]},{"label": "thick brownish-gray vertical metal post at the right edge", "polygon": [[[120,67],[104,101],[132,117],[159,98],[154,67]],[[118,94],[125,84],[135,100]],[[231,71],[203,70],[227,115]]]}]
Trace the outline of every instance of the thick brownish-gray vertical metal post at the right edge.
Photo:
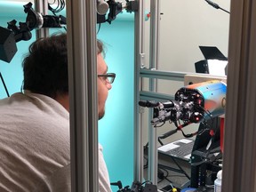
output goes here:
[{"label": "thick brownish-gray vertical metal post at the right edge", "polygon": [[256,191],[256,2],[232,0],[222,191]]}]

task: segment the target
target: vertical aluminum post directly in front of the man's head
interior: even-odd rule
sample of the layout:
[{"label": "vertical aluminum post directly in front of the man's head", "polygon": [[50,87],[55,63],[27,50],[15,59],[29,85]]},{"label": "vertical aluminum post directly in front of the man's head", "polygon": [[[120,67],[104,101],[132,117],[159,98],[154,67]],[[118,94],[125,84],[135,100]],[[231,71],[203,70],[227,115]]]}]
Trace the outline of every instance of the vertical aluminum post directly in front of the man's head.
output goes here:
[{"label": "vertical aluminum post directly in front of the man's head", "polygon": [[72,191],[99,191],[96,1],[68,1],[67,15]]}]

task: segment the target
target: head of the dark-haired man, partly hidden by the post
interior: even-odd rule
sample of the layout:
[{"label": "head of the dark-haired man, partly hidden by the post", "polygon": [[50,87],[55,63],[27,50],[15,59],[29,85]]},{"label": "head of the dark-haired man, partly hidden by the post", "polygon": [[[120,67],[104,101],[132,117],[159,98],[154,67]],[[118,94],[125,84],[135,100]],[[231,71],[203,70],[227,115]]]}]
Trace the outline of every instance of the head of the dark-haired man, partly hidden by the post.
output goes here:
[{"label": "head of the dark-haired man, partly hidden by the post", "polygon": [[[97,41],[98,75],[106,75],[108,67],[103,60],[103,44]],[[23,60],[24,90],[47,95],[69,110],[67,35],[53,35],[36,40],[29,46]],[[98,113],[104,116],[105,102],[111,84],[108,78],[98,78]]]}]

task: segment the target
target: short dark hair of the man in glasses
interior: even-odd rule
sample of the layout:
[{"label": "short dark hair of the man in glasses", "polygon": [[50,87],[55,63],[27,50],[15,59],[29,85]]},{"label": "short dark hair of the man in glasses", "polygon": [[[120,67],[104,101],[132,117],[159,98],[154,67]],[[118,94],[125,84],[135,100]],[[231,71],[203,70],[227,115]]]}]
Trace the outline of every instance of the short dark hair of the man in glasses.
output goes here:
[{"label": "short dark hair of the man in glasses", "polygon": [[[104,53],[103,44],[99,40],[97,52]],[[57,93],[68,93],[67,35],[37,39],[29,46],[22,66],[24,90],[44,94],[53,99]]]}]

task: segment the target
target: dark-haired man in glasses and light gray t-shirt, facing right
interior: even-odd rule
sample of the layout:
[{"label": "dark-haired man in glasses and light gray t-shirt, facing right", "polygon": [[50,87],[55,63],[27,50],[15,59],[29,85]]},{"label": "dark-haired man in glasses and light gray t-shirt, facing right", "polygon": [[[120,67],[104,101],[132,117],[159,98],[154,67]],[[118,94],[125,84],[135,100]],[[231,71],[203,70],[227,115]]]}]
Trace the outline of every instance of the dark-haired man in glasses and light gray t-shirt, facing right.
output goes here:
[{"label": "dark-haired man in glasses and light gray t-shirt, facing right", "polygon": [[[115,74],[98,41],[98,111]],[[24,92],[0,100],[0,191],[71,191],[67,36],[36,40],[23,60]],[[111,191],[99,148],[99,189]]]}]

